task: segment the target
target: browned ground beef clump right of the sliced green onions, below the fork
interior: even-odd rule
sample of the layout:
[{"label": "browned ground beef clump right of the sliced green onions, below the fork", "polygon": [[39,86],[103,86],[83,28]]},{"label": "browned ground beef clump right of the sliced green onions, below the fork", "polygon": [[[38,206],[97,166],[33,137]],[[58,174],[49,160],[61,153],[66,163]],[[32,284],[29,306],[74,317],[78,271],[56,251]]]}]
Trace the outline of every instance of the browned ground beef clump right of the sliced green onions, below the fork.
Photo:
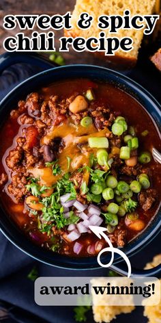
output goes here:
[{"label": "browned ground beef clump right of the sliced green onions, below the fork", "polygon": [[149,188],[146,191],[142,191],[138,196],[138,200],[141,207],[145,211],[150,209],[153,203],[156,201],[156,196],[157,196],[157,192],[152,188]]}]

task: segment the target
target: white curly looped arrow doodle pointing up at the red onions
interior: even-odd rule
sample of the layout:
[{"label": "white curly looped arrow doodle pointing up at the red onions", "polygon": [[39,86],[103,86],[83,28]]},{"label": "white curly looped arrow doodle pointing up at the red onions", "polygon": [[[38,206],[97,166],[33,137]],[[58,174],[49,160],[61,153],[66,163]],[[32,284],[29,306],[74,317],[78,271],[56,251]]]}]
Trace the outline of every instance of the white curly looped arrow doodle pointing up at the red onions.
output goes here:
[{"label": "white curly looped arrow doodle pointing up at the red onions", "polygon": [[[131,273],[132,273],[132,268],[131,268],[131,263],[130,263],[130,260],[128,259],[128,257],[126,256],[125,253],[123,253],[123,251],[121,251],[120,249],[118,248],[115,248],[113,247],[113,244],[111,244],[111,240],[108,238],[108,236],[104,233],[104,231],[107,231],[106,228],[104,227],[97,227],[97,226],[89,226],[89,229],[97,235],[97,237],[99,239],[102,239],[102,237],[104,237],[104,240],[106,240],[106,242],[108,243],[108,246],[109,247],[106,247],[102,250],[100,250],[100,253],[98,254],[98,263],[101,267],[104,267],[104,268],[108,268],[112,265],[113,263],[113,260],[114,260],[114,253],[117,253],[119,254],[127,263],[127,266],[128,266],[128,278],[131,276]],[[104,264],[100,261],[100,257],[102,255],[102,253],[106,253],[107,251],[110,251],[111,252],[111,260]]]}]

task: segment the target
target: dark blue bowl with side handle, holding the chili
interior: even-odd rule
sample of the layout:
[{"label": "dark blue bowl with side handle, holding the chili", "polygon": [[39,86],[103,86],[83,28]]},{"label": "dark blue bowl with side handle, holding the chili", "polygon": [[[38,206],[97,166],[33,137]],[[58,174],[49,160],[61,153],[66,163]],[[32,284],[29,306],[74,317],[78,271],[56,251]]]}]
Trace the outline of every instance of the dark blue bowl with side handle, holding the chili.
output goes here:
[{"label": "dark blue bowl with side handle, holding the chili", "polygon": [[[31,62],[31,60],[30,60]],[[47,65],[46,65],[47,66]],[[40,89],[42,86],[46,86],[49,83],[63,79],[72,79],[75,77],[86,77],[89,79],[101,80],[115,84],[115,86],[121,88],[122,90],[131,94],[136,100],[138,100],[143,107],[149,112],[153,117],[153,122],[156,123],[156,127],[161,125],[160,117],[160,105],[156,99],[151,96],[143,87],[138,85],[136,82],[132,81],[128,77],[121,75],[120,73],[115,72],[107,68],[102,68],[98,66],[90,65],[71,65],[71,66],[61,66],[57,68],[51,68],[50,70],[45,70],[42,73],[39,73],[33,77],[30,77],[23,83],[20,83],[19,86],[16,86],[5,99],[1,101],[0,104],[0,120],[1,123],[5,120],[10,109],[14,107],[20,99],[25,98],[30,92]],[[48,250],[44,250],[38,246],[35,246],[31,241],[27,240],[27,237],[16,227],[16,224],[10,219],[10,217],[5,214],[3,207],[0,207],[1,218],[0,218],[0,229],[3,234],[8,237],[8,239],[20,250],[23,250],[25,253],[31,257],[38,259],[44,263],[47,263],[51,266],[57,266],[59,268],[67,268],[74,270],[85,270],[85,269],[94,269],[99,268],[97,258],[72,258],[62,255],[57,255]],[[151,240],[160,232],[161,229],[161,212],[158,210],[157,216],[153,219],[149,227],[139,235],[135,240],[130,242],[123,252],[131,257],[134,253],[137,253],[141,248],[147,246]],[[107,262],[110,259],[110,255],[106,256]],[[126,274],[126,269],[123,268],[123,265],[120,263],[122,259],[119,255],[115,257],[115,263],[113,268],[121,274]],[[160,267],[156,270],[146,271],[147,275],[158,274]],[[133,274],[145,274],[143,270],[133,270]]]}]

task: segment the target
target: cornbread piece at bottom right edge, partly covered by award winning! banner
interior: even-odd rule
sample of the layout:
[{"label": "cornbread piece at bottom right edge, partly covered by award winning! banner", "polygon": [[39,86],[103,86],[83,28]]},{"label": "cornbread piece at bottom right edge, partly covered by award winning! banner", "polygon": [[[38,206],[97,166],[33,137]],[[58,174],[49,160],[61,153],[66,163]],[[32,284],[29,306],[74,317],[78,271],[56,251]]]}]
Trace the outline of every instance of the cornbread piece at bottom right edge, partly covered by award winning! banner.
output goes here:
[{"label": "cornbread piece at bottom right edge, partly covered by award winning! banner", "polygon": [[[150,269],[158,266],[161,263],[161,254],[153,258],[151,263],[147,263],[145,269]],[[160,280],[161,281],[161,280]],[[145,306],[144,315],[148,318],[148,323],[160,323],[161,322],[161,300],[158,305]]]}]

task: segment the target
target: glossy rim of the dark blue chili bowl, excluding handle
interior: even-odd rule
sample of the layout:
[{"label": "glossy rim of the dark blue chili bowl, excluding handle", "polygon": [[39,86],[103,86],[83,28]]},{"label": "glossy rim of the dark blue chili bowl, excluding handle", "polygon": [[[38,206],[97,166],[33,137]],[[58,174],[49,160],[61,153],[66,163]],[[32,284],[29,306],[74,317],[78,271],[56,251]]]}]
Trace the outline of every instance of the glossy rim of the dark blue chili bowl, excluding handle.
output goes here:
[{"label": "glossy rim of the dark blue chili bowl, excluding handle", "polygon": [[[138,95],[138,99],[142,98],[149,105],[151,105],[151,107],[153,107],[153,109],[158,114],[159,119],[161,120],[161,116],[160,116],[161,106],[160,106],[160,103],[158,103],[158,101],[145,88],[143,88],[143,86],[141,86],[136,81],[133,81],[132,79],[130,79],[130,77],[127,77],[126,75],[123,75],[120,72],[117,72],[117,71],[112,70],[110,68],[105,68],[105,67],[102,67],[102,66],[89,65],[89,64],[71,64],[71,65],[66,65],[66,66],[48,68],[47,70],[43,70],[42,72],[37,73],[37,74],[25,79],[25,81],[18,84],[15,88],[13,88],[3,98],[3,100],[0,103],[0,109],[1,109],[1,107],[3,107],[4,103],[6,105],[8,105],[8,101],[12,100],[12,94],[13,93],[15,94],[18,89],[23,87],[25,84],[29,83],[31,80],[34,81],[38,77],[43,77],[44,75],[48,76],[48,73],[53,73],[53,72],[55,73],[55,71],[57,71],[57,70],[64,70],[64,69],[65,70],[68,70],[68,69],[69,70],[70,69],[74,69],[74,70],[77,69],[78,70],[78,68],[81,68],[81,69],[88,68],[88,69],[94,69],[94,70],[99,70],[99,71],[102,70],[105,73],[109,73],[108,74],[109,77],[111,75],[113,75],[117,79],[117,81],[121,81],[125,87],[127,86],[130,90],[136,92],[136,94]],[[72,75],[70,75],[70,76],[66,75],[64,77],[64,79],[72,79],[72,78],[74,78]],[[85,78],[85,76],[83,76],[82,78]],[[87,78],[90,78],[90,77],[87,76]],[[98,79],[98,77],[96,77],[96,79]],[[101,74],[100,74],[100,79],[103,79],[103,77],[101,77]],[[55,82],[55,80],[53,79],[53,83],[54,82]],[[50,84],[50,83],[51,82],[48,82],[48,84]],[[115,81],[115,83],[117,83],[117,82]],[[36,85],[35,85],[35,88],[36,88]],[[136,98],[134,98],[134,99],[136,99]],[[147,108],[145,107],[145,105],[143,105],[143,107],[147,111]],[[147,111],[147,113],[149,113],[149,112]],[[156,126],[156,129],[158,129],[159,128],[158,121],[156,121],[153,118],[153,116],[151,116],[151,118],[153,120],[154,125]],[[1,120],[1,122],[3,122],[3,120]],[[2,209],[2,212],[5,214],[4,209]],[[158,207],[158,210],[156,211],[156,214],[158,214],[158,216],[155,216],[151,220],[150,224],[141,233],[141,235],[138,235],[138,237],[136,237],[134,240],[132,240],[132,242],[128,243],[126,248],[122,249],[126,253],[126,255],[128,255],[128,257],[132,257],[132,255],[134,255],[135,253],[138,253],[138,251],[142,250],[161,231],[161,214],[159,214],[159,207]],[[6,218],[9,218],[9,217],[6,216]],[[156,225],[154,225],[155,222],[156,222]],[[29,249],[30,249],[30,246],[29,246],[30,241],[27,240],[25,235],[23,235],[23,237],[25,237],[25,243],[24,243],[23,239],[19,240],[17,242],[15,237],[12,236],[12,234],[10,232],[10,229],[8,231],[8,228],[5,226],[5,224],[1,220],[1,218],[0,218],[0,230],[3,233],[3,235],[5,235],[5,237],[7,237],[8,240],[10,240],[10,242],[12,242],[12,244],[14,244],[17,248],[22,250],[24,253],[26,253],[30,257],[33,257],[34,259],[42,261],[43,263],[46,263],[46,264],[48,264],[50,266],[55,266],[55,267],[58,267],[58,268],[65,268],[65,269],[74,269],[74,270],[87,270],[87,269],[98,269],[98,268],[100,268],[100,266],[98,265],[98,262],[96,260],[97,257],[81,257],[81,258],[74,257],[74,258],[72,258],[72,257],[66,257],[66,256],[59,255],[59,259],[57,259],[57,257],[55,257],[57,263],[53,263],[53,261],[47,260],[48,257],[46,259],[46,257],[44,257],[44,255],[43,255],[43,252],[46,253],[46,255],[48,255],[48,250],[44,250],[44,249],[42,249],[42,247],[35,246],[32,242],[31,242],[31,249],[32,250],[29,251]],[[148,231],[149,231],[149,233],[148,233]],[[27,243],[27,241],[28,241],[28,243]],[[132,246],[133,244],[134,244],[134,246]],[[40,254],[40,255],[38,255],[38,254]],[[44,260],[44,258],[46,260]],[[63,263],[61,261],[63,261]],[[66,261],[68,262],[68,266],[67,266]],[[114,263],[119,263],[120,261],[122,261],[122,259],[119,256],[119,257],[116,257]]]}]

